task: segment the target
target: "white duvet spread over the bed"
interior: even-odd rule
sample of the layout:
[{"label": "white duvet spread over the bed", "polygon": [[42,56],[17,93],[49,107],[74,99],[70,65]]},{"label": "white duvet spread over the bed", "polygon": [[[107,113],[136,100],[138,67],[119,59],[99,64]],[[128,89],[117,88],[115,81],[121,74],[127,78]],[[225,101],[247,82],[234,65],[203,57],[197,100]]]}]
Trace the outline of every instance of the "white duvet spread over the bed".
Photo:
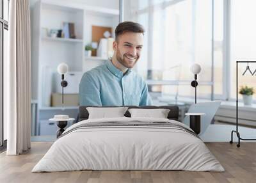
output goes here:
[{"label": "white duvet spread over the bed", "polygon": [[90,127],[93,122],[170,122],[163,118],[84,120],[69,127],[32,172],[72,170],[225,171],[204,142],[193,134],[168,127]]}]

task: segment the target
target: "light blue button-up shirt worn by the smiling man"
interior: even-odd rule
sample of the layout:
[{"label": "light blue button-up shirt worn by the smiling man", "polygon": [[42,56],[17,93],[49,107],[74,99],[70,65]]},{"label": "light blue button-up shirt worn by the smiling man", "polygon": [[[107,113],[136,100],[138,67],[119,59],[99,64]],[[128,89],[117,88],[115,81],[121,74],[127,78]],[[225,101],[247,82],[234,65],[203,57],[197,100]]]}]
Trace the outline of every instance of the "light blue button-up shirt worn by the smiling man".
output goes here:
[{"label": "light blue button-up shirt worn by the smiling man", "polygon": [[125,74],[111,61],[85,72],[79,84],[80,106],[148,106],[152,100],[145,81],[128,69]]}]

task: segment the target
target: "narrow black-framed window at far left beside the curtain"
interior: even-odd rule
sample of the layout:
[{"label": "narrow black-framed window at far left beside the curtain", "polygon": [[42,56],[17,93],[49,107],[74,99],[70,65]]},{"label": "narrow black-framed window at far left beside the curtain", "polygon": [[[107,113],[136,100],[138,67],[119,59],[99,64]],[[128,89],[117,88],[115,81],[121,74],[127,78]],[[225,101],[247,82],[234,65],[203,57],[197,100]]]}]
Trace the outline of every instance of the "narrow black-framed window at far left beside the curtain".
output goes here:
[{"label": "narrow black-framed window at far left beside the curtain", "polygon": [[0,146],[6,139],[6,124],[3,122],[3,64],[7,59],[9,1],[0,1]]}]

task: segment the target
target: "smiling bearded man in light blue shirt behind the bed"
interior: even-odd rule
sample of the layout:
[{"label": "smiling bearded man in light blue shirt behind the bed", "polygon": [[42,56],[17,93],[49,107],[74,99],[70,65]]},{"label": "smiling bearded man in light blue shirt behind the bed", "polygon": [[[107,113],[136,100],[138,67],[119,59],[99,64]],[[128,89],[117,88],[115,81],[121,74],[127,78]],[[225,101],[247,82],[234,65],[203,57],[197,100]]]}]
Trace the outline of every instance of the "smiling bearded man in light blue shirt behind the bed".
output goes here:
[{"label": "smiling bearded man in light blue shirt behind the bed", "polygon": [[131,68],[140,59],[144,29],[122,22],[115,29],[113,57],[85,72],[79,84],[80,106],[148,106],[147,84]]}]

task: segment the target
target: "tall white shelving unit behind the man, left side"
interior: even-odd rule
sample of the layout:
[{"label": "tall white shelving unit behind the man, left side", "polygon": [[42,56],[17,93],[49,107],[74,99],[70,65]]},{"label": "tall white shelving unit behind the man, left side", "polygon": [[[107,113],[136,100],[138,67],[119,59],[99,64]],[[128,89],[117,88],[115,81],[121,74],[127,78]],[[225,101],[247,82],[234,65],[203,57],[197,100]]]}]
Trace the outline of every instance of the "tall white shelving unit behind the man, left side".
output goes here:
[{"label": "tall white shelving unit behind the man, left side", "polygon": [[[56,114],[77,117],[78,106],[50,106],[51,93],[56,92],[56,84],[60,83],[54,81],[54,74],[62,62],[67,63],[70,71],[79,72],[104,63],[106,58],[85,57],[84,45],[92,42],[92,26],[115,30],[119,11],[72,1],[41,0],[31,14],[31,85],[32,99],[38,101],[36,131],[39,132],[40,121],[47,121]],[[52,38],[43,34],[45,29],[62,29],[63,22],[74,23],[76,38]]]}]

